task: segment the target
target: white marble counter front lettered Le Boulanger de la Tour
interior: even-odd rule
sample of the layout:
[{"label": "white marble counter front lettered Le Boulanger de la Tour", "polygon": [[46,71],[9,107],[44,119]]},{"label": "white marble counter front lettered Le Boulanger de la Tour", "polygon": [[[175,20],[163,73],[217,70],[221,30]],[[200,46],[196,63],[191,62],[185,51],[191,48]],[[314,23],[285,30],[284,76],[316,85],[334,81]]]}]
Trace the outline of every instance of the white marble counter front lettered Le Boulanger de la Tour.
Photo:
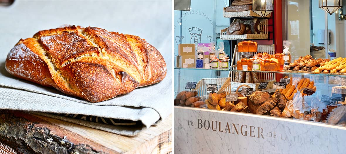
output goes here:
[{"label": "white marble counter front lettered Le Boulanger de la Tour", "polygon": [[174,108],[174,152],[344,153],[346,128],[297,119]]}]

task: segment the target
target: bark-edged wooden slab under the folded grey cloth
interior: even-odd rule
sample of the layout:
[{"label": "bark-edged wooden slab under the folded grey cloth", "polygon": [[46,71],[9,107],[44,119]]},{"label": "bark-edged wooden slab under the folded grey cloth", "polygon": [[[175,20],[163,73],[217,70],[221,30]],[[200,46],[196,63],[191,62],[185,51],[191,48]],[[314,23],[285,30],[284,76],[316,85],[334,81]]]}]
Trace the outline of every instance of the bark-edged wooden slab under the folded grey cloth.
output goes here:
[{"label": "bark-edged wooden slab under the folded grey cloth", "polygon": [[0,110],[0,142],[18,153],[166,154],[172,151],[171,123],[169,116],[128,137],[24,111]]}]

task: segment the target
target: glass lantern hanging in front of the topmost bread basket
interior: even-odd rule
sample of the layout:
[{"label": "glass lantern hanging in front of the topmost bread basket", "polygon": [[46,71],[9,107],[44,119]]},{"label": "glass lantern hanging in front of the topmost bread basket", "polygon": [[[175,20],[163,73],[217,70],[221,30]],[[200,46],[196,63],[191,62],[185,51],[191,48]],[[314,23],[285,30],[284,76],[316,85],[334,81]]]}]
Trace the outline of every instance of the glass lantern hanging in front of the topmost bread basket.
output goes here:
[{"label": "glass lantern hanging in front of the topmost bread basket", "polygon": [[265,17],[274,11],[273,0],[252,0],[252,11]]}]

